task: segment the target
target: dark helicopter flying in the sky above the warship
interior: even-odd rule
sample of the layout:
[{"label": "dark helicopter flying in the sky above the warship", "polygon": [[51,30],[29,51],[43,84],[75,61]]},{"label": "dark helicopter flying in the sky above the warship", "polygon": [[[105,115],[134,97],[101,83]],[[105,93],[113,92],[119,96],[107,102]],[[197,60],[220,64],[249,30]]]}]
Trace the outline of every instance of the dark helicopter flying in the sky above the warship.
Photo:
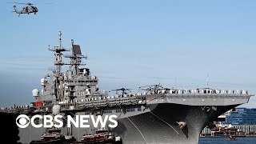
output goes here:
[{"label": "dark helicopter flying in the sky above the warship", "polygon": [[[30,14],[30,13],[37,14],[38,13],[38,8],[36,6],[34,6],[34,5],[37,5],[37,4],[33,4],[33,3],[30,3],[30,2],[27,2],[27,3],[8,2],[8,3],[15,3],[15,4],[18,4],[18,5],[26,5],[26,6],[22,7],[22,10],[18,10],[16,5],[14,5],[14,12],[16,14],[18,14],[18,16],[20,16],[21,14]],[[43,3],[43,4],[50,4],[50,3]]]}]

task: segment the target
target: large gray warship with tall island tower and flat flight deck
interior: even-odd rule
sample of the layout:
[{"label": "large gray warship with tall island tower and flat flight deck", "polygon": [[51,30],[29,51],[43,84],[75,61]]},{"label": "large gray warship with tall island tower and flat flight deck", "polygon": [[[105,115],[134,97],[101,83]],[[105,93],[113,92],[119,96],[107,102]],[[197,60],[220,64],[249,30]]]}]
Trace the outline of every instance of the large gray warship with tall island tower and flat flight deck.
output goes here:
[{"label": "large gray warship with tall island tower and flat flight deck", "polygon": [[[36,101],[26,106],[4,108],[1,112],[29,116],[62,114],[64,126],[60,128],[61,133],[65,138],[77,141],[85,139],[85,134],[94,134],[94,130],[67,127],[66,115],[116,115],[118,126],[106,126],[104,130],[120,136],[122,143],[195,144],[205,126],[211,126],[219,115],[249,102],[253,96],[247,90],[183,90],[164,88],[160,84],[141,86],[135,93],[125,88],[114,90],[115,94],[101,92],[98,77],[90,73],[84,62],[87,56],[73,40],[70,49],[62,47],[62,33],[59,32],[58,46],[49,46],[49,50],[54,52],[54,69],[41,79],[42,91],[32,91]],[[65,51],[70,53],[63,54]],[[68,62],[64,62],[64,58]],[[90,120],[89,123],[92,125]],[[39,140],[46,131],[30,125],[18,130],[22,143]]]}]

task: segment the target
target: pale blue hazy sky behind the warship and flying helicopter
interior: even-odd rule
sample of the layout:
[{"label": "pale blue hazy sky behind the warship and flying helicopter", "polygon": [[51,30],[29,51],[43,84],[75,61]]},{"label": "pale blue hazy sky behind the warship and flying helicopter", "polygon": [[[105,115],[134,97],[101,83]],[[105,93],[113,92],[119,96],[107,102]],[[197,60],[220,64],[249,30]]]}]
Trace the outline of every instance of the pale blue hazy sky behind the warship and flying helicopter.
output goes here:
[{"label": "pale blue hazy sky behind the warship and flying helicopter", "polygon": [[[100,90],[155,83],[182,89],[209,86],[256,94],[255,1],[76,0],[11,13],[2,1],[0,106],[34,101],[31,90],[53,66],[48,45],[88,54]],[[18,1],[27,2],[27,1]],[[22,5],[18,6],[19,9]],[[67,61],[67,60],[66,60]],[[256,107],[256,98],[244,106]]]}]

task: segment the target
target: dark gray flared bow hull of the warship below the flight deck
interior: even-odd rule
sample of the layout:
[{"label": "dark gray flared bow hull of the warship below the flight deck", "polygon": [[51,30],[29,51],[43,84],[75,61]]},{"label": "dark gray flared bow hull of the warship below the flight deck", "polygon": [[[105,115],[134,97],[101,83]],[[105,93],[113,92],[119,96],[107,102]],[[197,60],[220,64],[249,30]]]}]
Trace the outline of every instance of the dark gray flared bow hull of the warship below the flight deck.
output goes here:
[{"label": "dark gray flared bow hull of the warship below the flight deck", "polygon": [[[198,143],[202,129],[218,115],[234,106],[219,106],[218,111],[202,110],[202,106],[159,104],[154,110],[120,119],[116,128],[125,143]],[[177,122],[186,122],[180,129]]]}]

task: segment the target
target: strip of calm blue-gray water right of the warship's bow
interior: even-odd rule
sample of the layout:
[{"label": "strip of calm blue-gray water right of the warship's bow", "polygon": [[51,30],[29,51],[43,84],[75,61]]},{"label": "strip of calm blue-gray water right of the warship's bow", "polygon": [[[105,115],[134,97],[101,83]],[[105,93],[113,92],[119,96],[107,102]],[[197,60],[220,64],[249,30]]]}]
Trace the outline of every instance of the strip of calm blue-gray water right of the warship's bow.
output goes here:
[{"label": "strip of calm blue-gray water right of the warship's bow", "polygon": [[226,141],[227,138],[199,138],[199,144],[256,144],[256,138],[238,137],[237,141]]}]

